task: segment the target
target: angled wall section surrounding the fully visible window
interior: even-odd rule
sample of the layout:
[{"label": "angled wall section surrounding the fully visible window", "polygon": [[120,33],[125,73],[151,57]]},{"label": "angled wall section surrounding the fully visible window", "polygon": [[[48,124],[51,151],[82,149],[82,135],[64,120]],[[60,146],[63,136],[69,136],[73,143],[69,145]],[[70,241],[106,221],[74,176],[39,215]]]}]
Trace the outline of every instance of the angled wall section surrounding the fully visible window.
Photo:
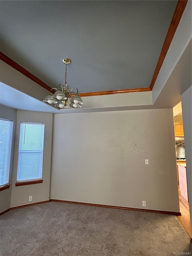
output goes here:
[{"label": "angled wall section surrounding the fully visible window", "polygon": [[[45,124],[44,137],[44,155],[43,155],[43,183],[15,186],[18,149],[19,149],[19,130],[20,122],[35,122]],[[11,191],[10,207],[37,203],[49,200],[50,198],[50,176],[51,176],[51,159],[52,159],[52,125],[53,115],[50,113],[40,113],[32,111],[17,110],[16,137],[13,160],[13,180]],[[29,196],[33,196],[32,202],[29,202]]]}]

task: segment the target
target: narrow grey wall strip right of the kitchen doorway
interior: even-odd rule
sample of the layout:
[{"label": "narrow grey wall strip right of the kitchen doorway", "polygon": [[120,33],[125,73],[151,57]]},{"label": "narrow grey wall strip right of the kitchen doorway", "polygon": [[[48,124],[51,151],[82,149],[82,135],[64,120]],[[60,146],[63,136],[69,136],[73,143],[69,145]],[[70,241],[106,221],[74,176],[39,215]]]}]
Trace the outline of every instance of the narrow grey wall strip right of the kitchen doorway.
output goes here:
[{"label": "narrow grey wall strip right of the kitchen doorway", "polygon": [[[183,115],[183,128],[184,128],[184,138],[185,138],[185,155],[186,155],[186,165],[187,165],[187,187],[188,187],[188,197],[189,197],[189,208],[190,208],[190,218],[192,224],[192,86],[187,89],[182,95],[182,115]],[[192,225],[191,225],[192,227]]]}]

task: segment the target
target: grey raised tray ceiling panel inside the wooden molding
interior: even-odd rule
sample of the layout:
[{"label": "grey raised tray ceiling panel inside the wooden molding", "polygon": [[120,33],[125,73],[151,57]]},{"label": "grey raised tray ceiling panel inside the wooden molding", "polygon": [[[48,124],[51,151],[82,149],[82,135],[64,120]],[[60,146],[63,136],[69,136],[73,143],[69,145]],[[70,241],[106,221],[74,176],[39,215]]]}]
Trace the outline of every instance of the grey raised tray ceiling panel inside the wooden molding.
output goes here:
[{"label": "grey raised tray ceiling panel inside the wooden molding", "polygon": [[1,52],[50,87],[149,87],[177,1],[1,1]]}]

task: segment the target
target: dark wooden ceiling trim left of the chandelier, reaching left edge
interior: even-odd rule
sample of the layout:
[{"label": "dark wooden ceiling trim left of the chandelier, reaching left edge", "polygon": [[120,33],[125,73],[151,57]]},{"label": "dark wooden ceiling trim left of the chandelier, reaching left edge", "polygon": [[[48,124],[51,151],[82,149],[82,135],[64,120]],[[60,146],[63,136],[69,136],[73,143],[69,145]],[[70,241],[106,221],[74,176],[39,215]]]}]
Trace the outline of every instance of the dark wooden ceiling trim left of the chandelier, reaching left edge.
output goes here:
[{"label": "dark wooden ceiling trim left of the chandelier, reaching left edge", "polygon": [[4,53],[0,52],[0,59],[5,62],[6,64],[8,64],[9,66],[11,66],[12,68],[16,69],[17,71],[19,71],[21,74],[23,74],[24,76],[28,77],[29,79],[31,79],[33,82],[37,83],[38,85],[40,85],[41,87],[43,87],[44,89],[50,91],[51,87],[48,86],[46,83],[44,83],[43,81],[41,81],[40,79],[38,79],[37,77],[35,77],[33,74],[31,74],[29,71],[27,71],[25,68],[22,68],[19,64],[17,64],[16,62],[14,62],[12,59],[10,59],[9,57],[7,57]]}]

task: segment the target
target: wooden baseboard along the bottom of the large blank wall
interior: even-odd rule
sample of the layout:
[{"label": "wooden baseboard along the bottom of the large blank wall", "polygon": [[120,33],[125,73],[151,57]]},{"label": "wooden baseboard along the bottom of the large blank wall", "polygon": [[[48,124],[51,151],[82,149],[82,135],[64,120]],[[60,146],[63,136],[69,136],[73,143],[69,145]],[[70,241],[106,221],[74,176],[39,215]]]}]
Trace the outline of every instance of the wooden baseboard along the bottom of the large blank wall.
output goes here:
[{"label": "wooden baseboard along the bottom of the large blank wall", "polygon": [[155,212],[155,213],[171,214],[171,215],[178,215],[178,216],[181,215],[181,212],[158,211],[158,210],[139,209],[139,208],[112,206],[112,205],[95,204],[95,203],[81,203],[81,202],[73,202],[73,201],[66,201],[66,200],[56,200],[56,199],[50,199],[50,201],[61,202],[61,203],[74,203],[74,204],[82,204],[82,205],[89,205],[89,206],[106,207],[106,208],[116,208],[116,209],[132,210],[132,211],[141,211],[141,212]]}]

